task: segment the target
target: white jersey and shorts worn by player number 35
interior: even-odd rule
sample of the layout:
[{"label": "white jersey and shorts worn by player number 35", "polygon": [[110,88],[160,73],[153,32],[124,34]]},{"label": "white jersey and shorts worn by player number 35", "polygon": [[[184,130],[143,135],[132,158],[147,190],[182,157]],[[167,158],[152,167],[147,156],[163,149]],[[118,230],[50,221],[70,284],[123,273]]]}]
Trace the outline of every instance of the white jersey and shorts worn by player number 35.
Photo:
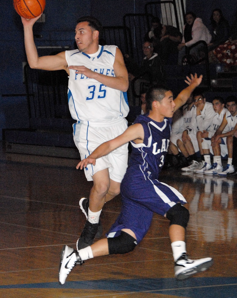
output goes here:
[{"label": "white jersey and shorts worn by player number 35", "polygon": [[[66,51],[68,65],[86,66],[94,72],[115,77],[114,59],[117,46],[100,46],[95,54],[87,55],[78,49]],[[75,144],[81,159],[87,157],[100,144],[122,134],[127,128],[125,117],[129,107],[126,92],[109,88],[95,79],[76,74],[70,69],[68,82],[68,103],[73,119]],[[97,159],[96,165],[85,169],[88,181],[92,176],[109,168],[110,178],[121,182],[127,168],[127,145]]]}]

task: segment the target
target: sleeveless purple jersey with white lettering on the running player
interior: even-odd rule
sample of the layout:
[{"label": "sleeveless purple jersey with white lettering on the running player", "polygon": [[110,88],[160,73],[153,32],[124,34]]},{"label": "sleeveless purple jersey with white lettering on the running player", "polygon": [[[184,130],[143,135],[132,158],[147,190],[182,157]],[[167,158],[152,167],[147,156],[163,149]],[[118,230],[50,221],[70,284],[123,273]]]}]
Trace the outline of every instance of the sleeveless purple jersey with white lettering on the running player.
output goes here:
[{"label": "sleeveless purple jersey with white lettering on the running player", "polygon": [[[132,153],[128,170],[137,171],[139,167],[144,177],[158,179],[169,146],[171,122],[172,118],[156,122],[149,118],[148,114],[136,118],[134,124],[140,123],[144,129],[144,141],[142,144],[131,142]],[[134,169],[129,169],[130,167]]]}]

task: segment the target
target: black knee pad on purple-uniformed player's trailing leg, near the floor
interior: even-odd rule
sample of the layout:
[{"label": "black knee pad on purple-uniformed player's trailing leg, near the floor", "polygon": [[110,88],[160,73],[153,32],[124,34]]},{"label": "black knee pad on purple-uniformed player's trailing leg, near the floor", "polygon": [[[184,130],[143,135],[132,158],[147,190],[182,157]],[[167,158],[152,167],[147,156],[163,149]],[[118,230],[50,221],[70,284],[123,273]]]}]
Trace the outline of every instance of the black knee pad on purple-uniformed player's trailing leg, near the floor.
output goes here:
[{"label": "black knee pad on purple-uniformed player's trailing leg, near the floor", "polygon": [[126,254],[131,252],[137,245],[137,240],[126,232],[121,231],[118,237],[107,238],[109,254]]}]

